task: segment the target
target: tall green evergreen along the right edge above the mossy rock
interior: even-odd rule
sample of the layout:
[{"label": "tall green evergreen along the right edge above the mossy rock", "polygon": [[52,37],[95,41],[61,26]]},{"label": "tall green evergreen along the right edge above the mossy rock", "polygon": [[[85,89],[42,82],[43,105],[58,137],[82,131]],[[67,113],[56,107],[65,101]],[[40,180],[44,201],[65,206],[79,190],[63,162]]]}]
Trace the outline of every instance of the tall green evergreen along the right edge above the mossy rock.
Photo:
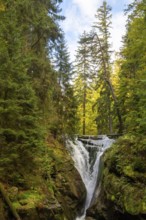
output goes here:
[{"label": "tall green evergreen along the right edge above the mossy rock", "polygon": [[[124,129],[132,133],[145,133],[146,128],[146,4],[134,1],[129,6],[127,33],[122,50],[120,71],[121,109]],[[128,12],[129,12],[128,10]]]}]

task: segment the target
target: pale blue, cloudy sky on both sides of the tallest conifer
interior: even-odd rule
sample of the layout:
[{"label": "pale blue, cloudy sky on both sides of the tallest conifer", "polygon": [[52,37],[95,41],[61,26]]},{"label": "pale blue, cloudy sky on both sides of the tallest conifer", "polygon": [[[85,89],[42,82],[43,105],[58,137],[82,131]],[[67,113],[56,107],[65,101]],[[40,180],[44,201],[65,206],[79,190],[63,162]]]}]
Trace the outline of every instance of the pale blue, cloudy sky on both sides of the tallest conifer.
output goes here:
[{"label": "pale blue, cloudy sky on both sides of the tallest conifer", "polygon": [[[91,30],[96,11],[102,2],[103,0],[63,0],[61,4],[62,14],[66,19],[61,22],[61,27],[65,32],[72,61],[74,60],[80,35],[84,31]],[[132,0],[107,0],[108,5],[112,7],[111,43],[113,51],[119,51],[122,46],[121,41],[126,24],[124,9],[131,2]]]}]

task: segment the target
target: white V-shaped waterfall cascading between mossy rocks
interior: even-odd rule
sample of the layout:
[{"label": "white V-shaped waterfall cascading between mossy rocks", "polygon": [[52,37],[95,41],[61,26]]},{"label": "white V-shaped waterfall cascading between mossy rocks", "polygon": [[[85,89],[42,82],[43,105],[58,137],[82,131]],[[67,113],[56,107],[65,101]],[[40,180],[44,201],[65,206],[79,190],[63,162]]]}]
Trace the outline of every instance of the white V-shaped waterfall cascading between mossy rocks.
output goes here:
[{"label": "white V-shaped waterfall cascading between mossy rocks", "polygon": [[98,136],[97,140],[89,138],[80,139],[80,141],[76,140],[74,143],[69,140],[67,141],[67,148],[87,191],[84,212],[82,216],[77,217],[76,220],[85,219],[86,210],[91,205],[95,189],[96,197],[100,192],[100,159],[104,151],[109,148],[113,142],[114,140],[109,139],[106,135]]}]

